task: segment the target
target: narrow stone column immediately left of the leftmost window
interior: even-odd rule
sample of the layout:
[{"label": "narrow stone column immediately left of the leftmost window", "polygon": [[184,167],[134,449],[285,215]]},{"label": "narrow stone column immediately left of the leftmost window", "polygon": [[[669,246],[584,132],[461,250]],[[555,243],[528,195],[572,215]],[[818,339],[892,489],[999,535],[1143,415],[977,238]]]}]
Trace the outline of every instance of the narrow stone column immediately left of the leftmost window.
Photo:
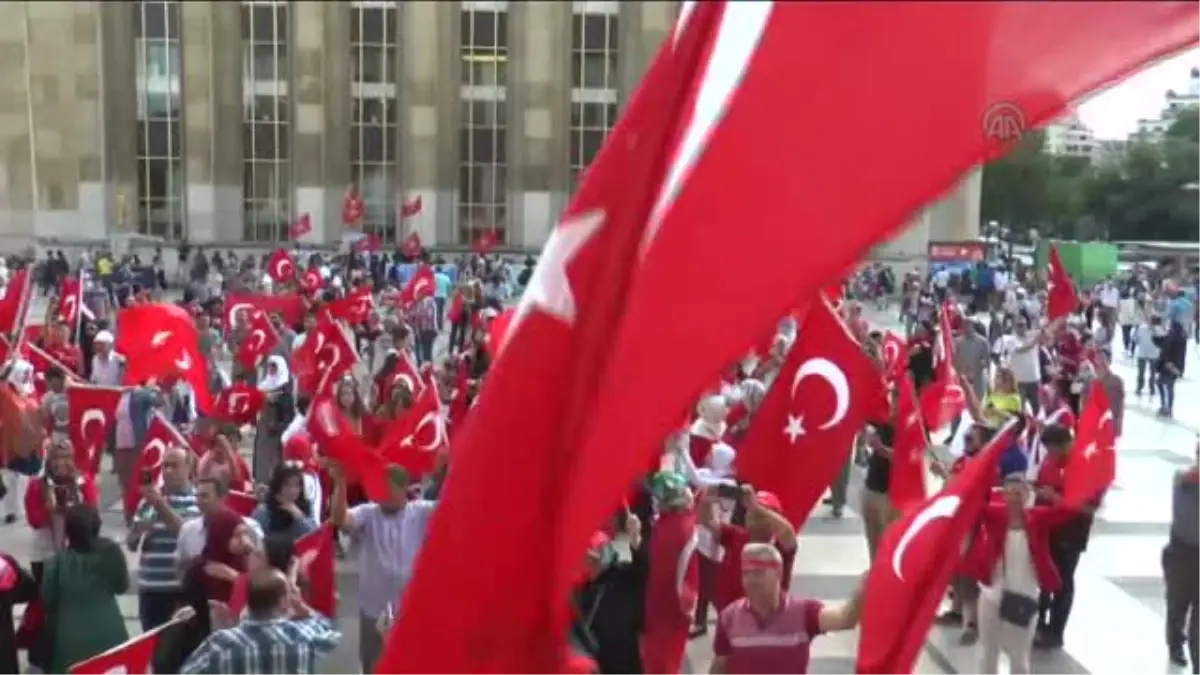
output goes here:
[{"label": "narrow stone column immediately left of the leftmost window", "polygon": [[101,119],[104,138],[101,173],[108,233],[138,231],[138,7],[97,2],[100,7],[100,72],[103,82]]}]

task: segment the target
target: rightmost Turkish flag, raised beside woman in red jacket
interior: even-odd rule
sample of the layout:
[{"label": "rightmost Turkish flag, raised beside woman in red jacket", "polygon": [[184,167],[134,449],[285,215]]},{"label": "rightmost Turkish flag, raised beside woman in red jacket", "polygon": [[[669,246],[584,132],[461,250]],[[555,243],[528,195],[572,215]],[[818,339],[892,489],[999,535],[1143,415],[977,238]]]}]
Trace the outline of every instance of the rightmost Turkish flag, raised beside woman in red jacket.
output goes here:
[{"label": "rightmost Turkish flag, raised beside woman in red jacket", "polygon": [[1079,432],[1067,454],[1063,471],[1063,506],[1079,508],[1097,500],[1112,485],[1117,476],[1116,431],[1112,426],[1112,405],[1104,383],[1092,381],[1092,387],[1079,413]]}]

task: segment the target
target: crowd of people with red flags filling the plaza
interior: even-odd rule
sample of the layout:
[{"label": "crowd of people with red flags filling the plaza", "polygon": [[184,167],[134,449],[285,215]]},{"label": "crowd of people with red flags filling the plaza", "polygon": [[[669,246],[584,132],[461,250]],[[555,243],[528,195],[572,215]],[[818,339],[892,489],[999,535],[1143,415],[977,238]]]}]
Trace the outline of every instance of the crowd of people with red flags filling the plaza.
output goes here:
[{"label": "crowd of people with red flags filling the plaza", "polygon": [[[18,650],[54,674],[88,673],[79,664],[113,653],[155,673],[316,673],[340,640],[330,578],[343,537],[358,555],[359,658],[374,671],[452,471],[454,435],[533,270],[532,259],[518,269],[496,256],[446,263],[398,251],[332,258],[281,249],[245,261],[192,251],[188,259],[187,289],[170,309],[161,274],[118,294],[90,258],[79,269],[52,256],[37,277],[55,295],[44,321],[18,310],[0,325],[5,522],[32,537],[28,558],[0,556],[0,635],[11,638],[0,640],[0,675],[18,673]],[[0,323],[32,279],[13,275]],[[962,394],[946,419],[922,405],[926,429],[914,452],[943,478],[1015,422],[937,621],[978,644],[979,673],[997,673],[1001,653],[1012,673],[1030,673],[1033,649],[1063,645],[1074,572],[1103,498],[1103,485],[1082,501],[1064,491],[1092,399],[1104,398],[1112,438],[1121,434],[1124,387],[1109,368],[1116,327],[1139,363],[1136,395],[1146,371],[1170,416],[1190,307],[1170,282],[1141,276],[1080,293],[1066,313],[1021,274],[962,294],[936,273],[896,280],[870,265],[857,279],[828,299],[890,395],[857,430],[827,503],[841,514],[850,464],[864,464],[864,545],[872,557],[886,545],[910,506],[893,466],[910,387],[922,401],[938,387]],[[97,285],[120,310],[82,309]],[[869,325],[853,299],[882,307],[893,287],[905,335]],[[140,325],[149,319],[155,330]],[[179,333],[172,321],[194,330],[198,372],[192,347],[162,368],[148,351]],[[803,316],[785,318],[706,394],[620,512],[598,526],[571,601],[580,673],[676,675],[690,640],[712,640],[714,675],[804,673],[814,639],[859,623],[865,585],[845,603],[788,595],[804,518],[792,518],[792,495],[739,474],[763,401],[792,383],[784,371],[804,325]],[[97,494],[106,468],[120,495]],[[1183,486],[1200,483],[1188,476]],[[125,506],[120,544],[101,536],[102,497]],[[1171,565],[1194,560],[1193,544],[1200,532],[1172,539]],[[137,552],[136,575],[120,545]],[[134,637],[116,604],[131,586],[143,631]],[[1171,658],[1186,663],[1196,641],[1183,638],[1178,613],[1169,621]]]}]

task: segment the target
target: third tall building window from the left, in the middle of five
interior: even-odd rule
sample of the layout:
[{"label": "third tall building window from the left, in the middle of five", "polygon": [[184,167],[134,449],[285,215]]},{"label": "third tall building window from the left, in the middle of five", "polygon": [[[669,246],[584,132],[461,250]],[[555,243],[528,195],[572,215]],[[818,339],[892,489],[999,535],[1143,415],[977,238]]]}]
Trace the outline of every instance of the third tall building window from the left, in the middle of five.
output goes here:
[{"label": "third tall building window from the left, in the middle of five", "polygon": [[396,240],[396,2],[350,6],[350,174],[362,198],[362,232]]}]

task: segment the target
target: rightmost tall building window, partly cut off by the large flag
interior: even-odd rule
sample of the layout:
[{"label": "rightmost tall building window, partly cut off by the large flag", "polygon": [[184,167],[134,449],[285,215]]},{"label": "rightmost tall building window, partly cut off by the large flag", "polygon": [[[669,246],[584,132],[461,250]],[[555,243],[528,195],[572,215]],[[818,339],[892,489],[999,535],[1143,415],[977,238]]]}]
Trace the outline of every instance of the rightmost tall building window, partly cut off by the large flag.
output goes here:
[{"label": "rightmost tall building window, partly cut off by the large flag", "polygon": [[617,121],[617,16],[580,5],[571,20],[571,192]]}]

